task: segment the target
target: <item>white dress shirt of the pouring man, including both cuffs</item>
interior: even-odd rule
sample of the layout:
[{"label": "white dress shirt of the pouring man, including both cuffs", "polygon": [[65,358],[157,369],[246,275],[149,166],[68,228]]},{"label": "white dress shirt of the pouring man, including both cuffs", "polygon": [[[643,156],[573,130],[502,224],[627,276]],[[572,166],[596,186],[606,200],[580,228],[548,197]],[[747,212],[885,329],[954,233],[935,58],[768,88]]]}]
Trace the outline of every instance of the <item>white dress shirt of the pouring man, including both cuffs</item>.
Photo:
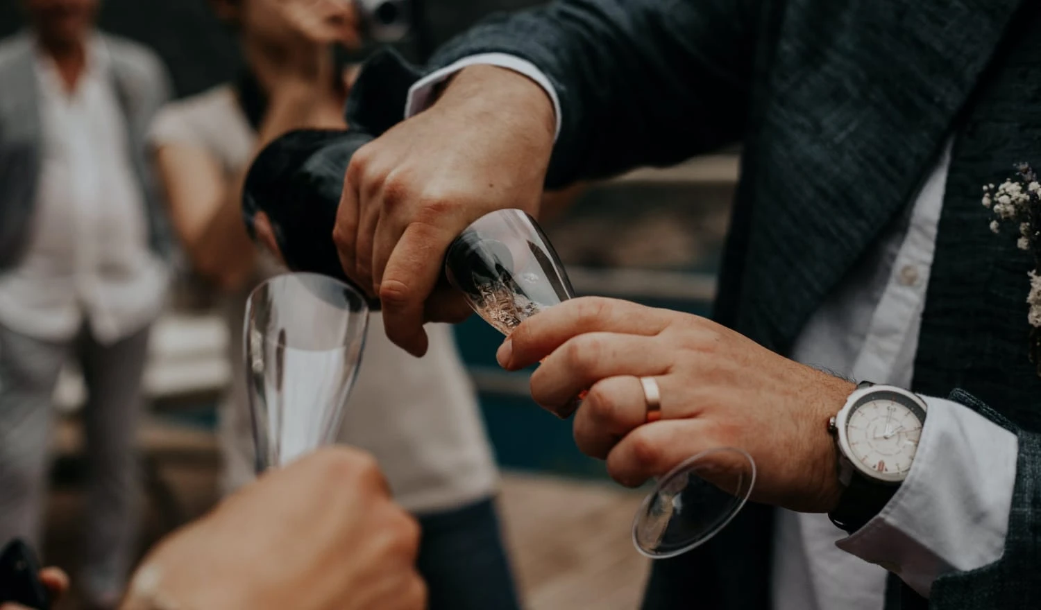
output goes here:
[{"label": "white dress shirt of the pouring man, including both cuffs", "polygon": [[[467,57],[416,82],[406,116],[429,105],[438,82],[476,63],[513,70],[542,86],[559,133],[561,108],[549,79],[529,61],[503,54]],[[858,380],[910,387],[949,160],[948,144],[903,222],[814,314],[795,342],[794,360]],[[881,610],[886,569],[928,596],[941,574],[1000,558],[1017,440],[961,404],[923,398],[928,417],[908,478],[866,526],[846,536],[824,514],[778,511],[776,610]]]}]

